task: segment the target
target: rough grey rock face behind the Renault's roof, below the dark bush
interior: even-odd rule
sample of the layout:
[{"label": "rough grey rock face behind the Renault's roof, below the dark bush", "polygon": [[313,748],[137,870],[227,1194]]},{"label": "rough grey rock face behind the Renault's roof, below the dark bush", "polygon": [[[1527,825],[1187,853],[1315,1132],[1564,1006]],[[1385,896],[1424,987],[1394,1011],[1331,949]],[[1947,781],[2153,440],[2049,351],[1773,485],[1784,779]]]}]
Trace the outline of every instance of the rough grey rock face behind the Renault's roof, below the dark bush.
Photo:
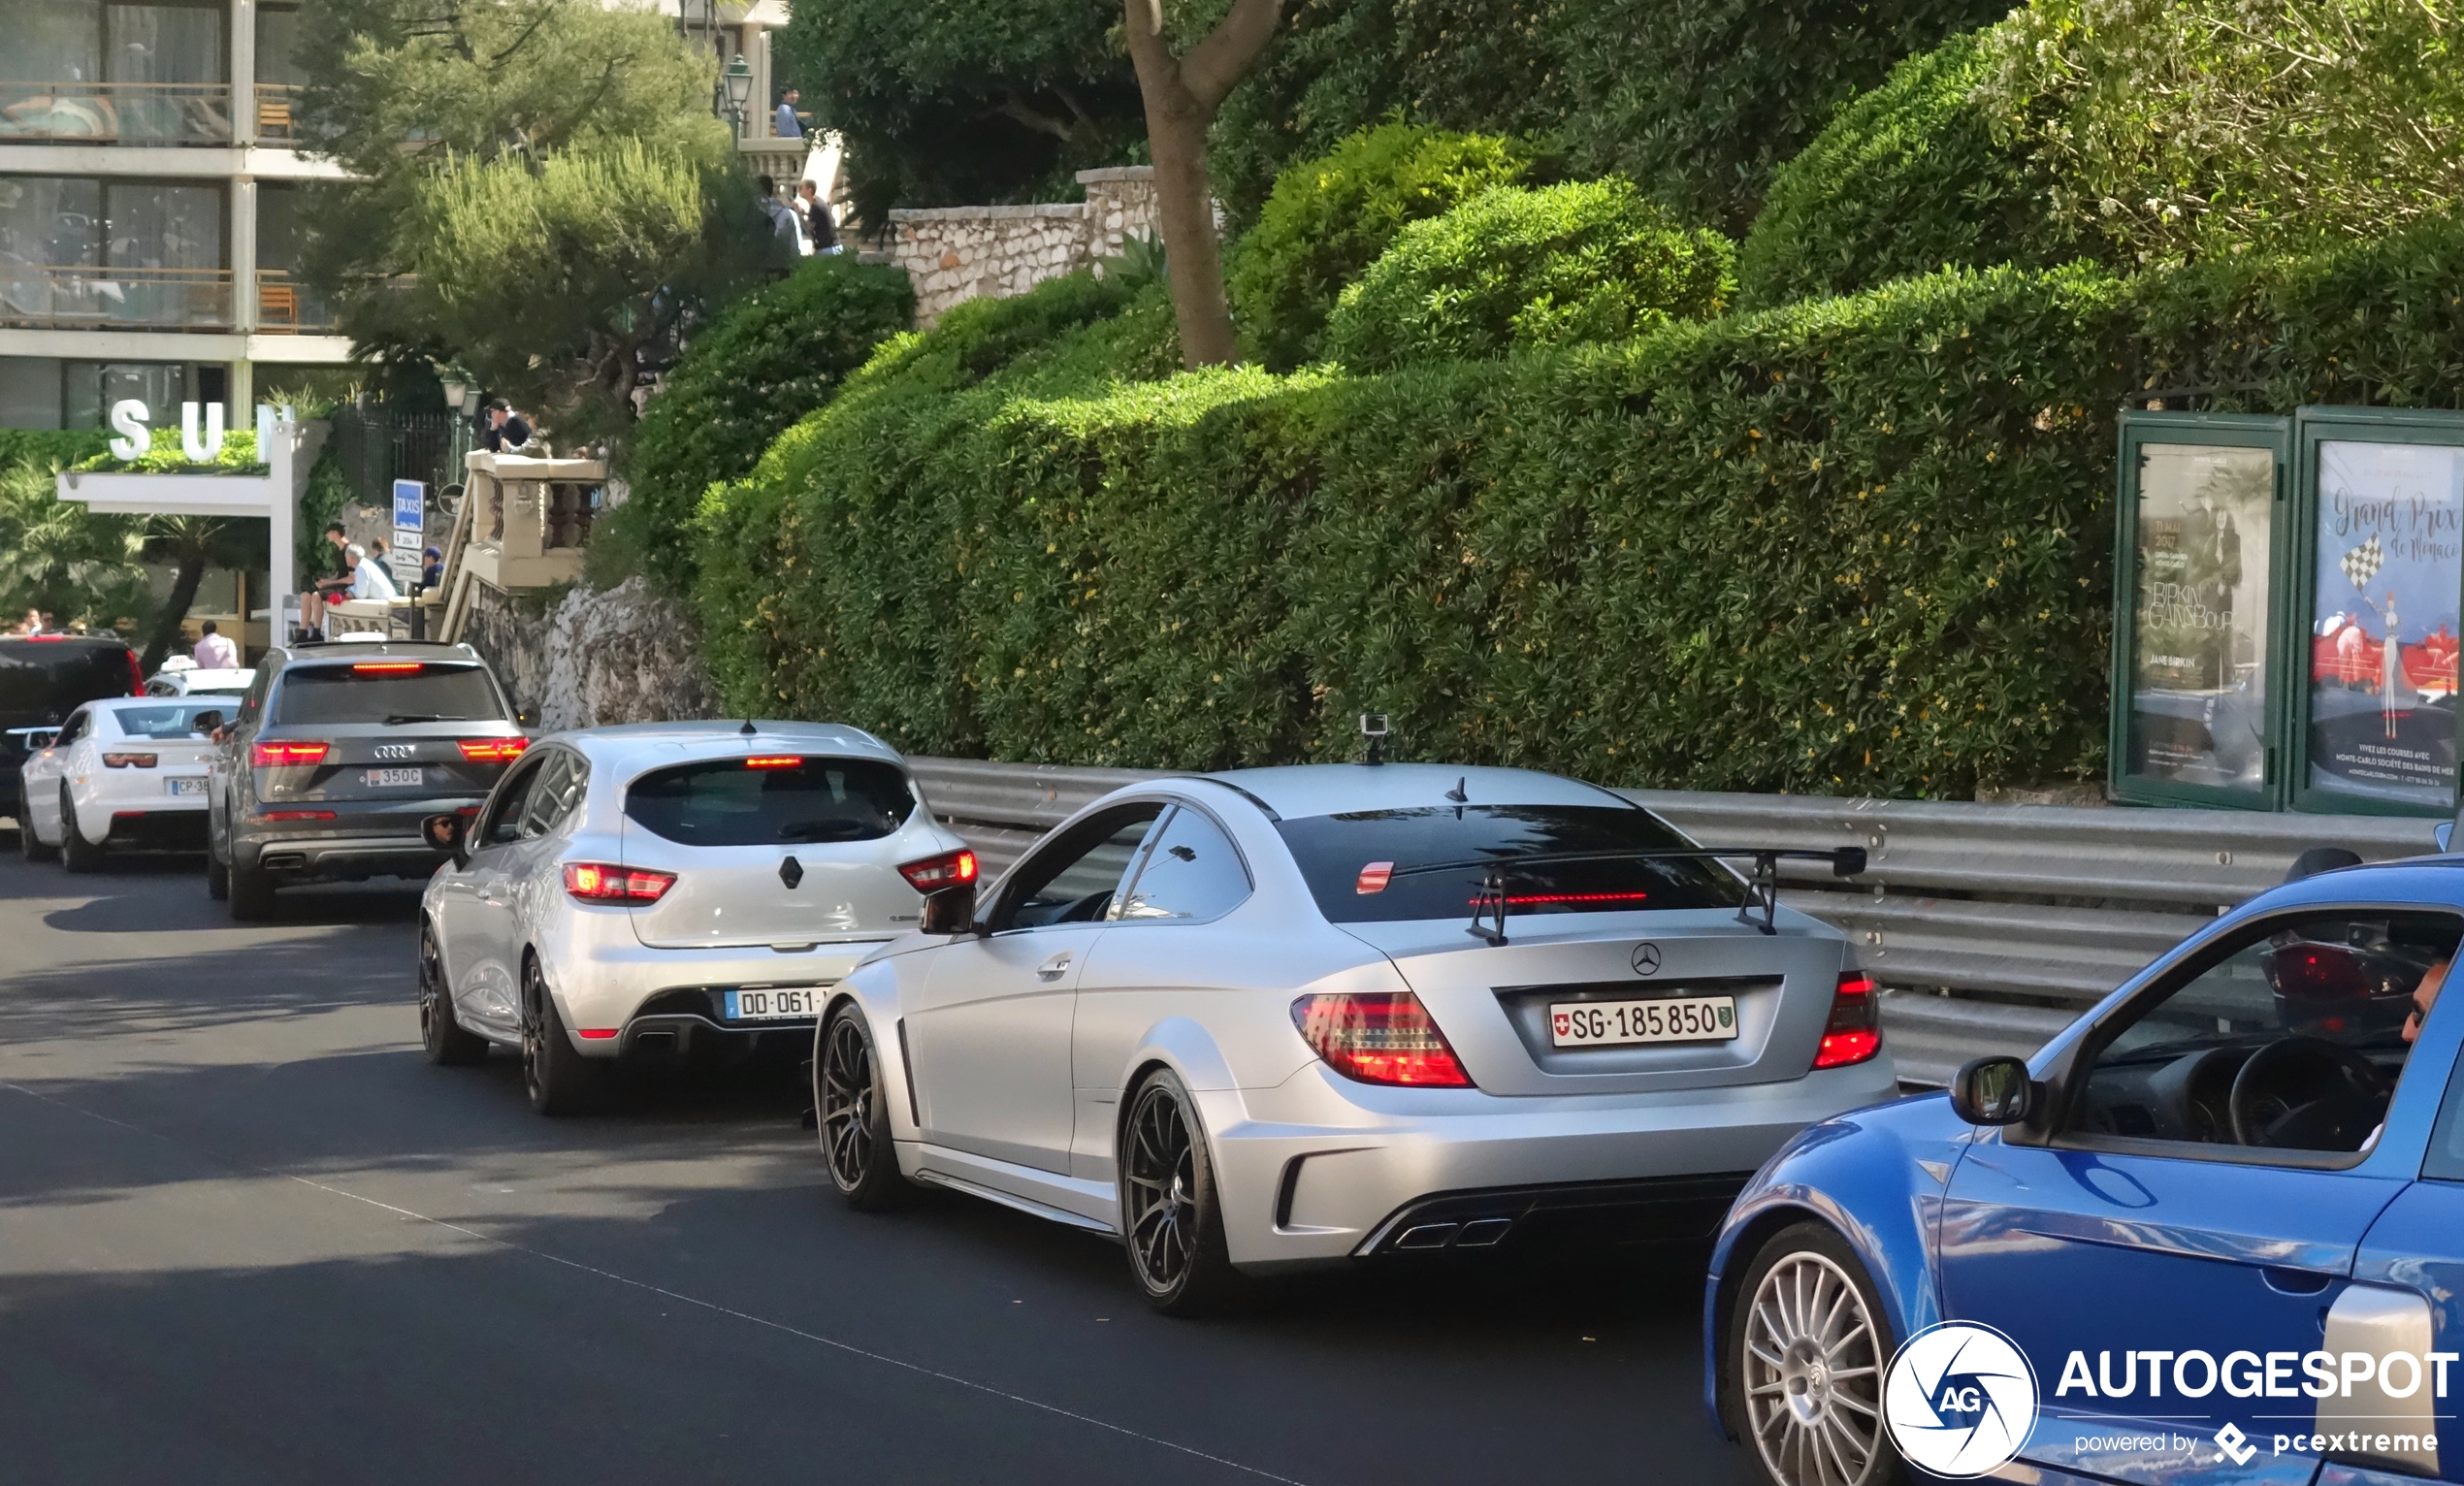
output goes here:
[{"label": "rough grey rock face behind the Renault's roof, below the dark bush", "polygon": [[476,584],[463,638],[549,732],[717,715],[690,616],[643,579],[554,601]]}]

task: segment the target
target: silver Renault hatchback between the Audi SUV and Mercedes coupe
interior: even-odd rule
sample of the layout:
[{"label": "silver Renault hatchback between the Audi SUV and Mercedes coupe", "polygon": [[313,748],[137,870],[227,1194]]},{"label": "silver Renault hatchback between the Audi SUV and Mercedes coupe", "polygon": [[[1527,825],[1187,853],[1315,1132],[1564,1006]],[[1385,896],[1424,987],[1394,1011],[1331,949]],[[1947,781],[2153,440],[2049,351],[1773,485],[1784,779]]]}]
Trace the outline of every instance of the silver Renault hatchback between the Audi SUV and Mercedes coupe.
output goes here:
[{"label": "silver Renault hatchback between the Audi SUV and Mercedes coupe", "polygon": [[604,1099],[618,1057],[811,1047],[865,954],[976,880],[904,759],[823,722],[562,732],[468,813],[419,917],[431,1062],[520,1047],[540,1114]]}]

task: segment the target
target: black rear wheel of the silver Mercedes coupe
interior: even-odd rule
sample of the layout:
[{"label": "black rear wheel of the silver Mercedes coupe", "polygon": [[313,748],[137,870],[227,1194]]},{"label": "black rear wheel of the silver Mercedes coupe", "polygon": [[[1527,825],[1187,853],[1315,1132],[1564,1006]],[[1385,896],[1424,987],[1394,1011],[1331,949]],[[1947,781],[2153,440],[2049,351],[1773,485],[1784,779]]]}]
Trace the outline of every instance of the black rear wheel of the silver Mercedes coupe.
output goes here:
[{"label": "black rear wheel of the silver Mercedes coupe", "polygon": [[1146,1304],[1165,1316],[1212,1311],[1239,1284],[1198,1109],[1170,1072],[1138,1084],[1121,1126],[1121,1232]]}]

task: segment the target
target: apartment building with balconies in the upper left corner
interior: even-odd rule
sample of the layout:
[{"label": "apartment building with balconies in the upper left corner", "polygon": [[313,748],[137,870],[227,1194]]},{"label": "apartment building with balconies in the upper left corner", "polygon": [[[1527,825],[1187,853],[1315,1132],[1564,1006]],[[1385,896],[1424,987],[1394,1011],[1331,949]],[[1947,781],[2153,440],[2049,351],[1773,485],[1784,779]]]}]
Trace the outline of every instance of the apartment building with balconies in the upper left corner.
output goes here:
[{"label": "apartment building with balconies in the upper left corner", "polygon": [[249,407],[350,343],[293,278],[298,7],[7,0],[0,20],[0,426],[111,404]]}]

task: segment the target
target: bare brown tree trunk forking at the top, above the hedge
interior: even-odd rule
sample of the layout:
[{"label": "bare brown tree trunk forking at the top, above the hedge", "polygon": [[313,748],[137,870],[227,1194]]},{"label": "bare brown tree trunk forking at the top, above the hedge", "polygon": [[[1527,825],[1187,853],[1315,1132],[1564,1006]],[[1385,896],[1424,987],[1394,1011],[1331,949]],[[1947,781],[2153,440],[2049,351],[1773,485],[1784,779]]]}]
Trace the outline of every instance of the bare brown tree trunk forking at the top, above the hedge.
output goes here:
[{"label": "bare brown tree trunk forking at the top, above the hedge", "polygon": [[1163,227],[1173,320],[1188,367],[1239,360],[1232,303],[1225,298],[1222,246],[1215,242],[1215,190],[1207,180],[1207,128],[1232,86],[1274,39],[1281,0],[1232,0],[1202,42],[1183,57],[1163,39],[1163,0],[1124,0],[1129,59],[1146,101],[1146,143],[1156,158],[1156,217]]}]

